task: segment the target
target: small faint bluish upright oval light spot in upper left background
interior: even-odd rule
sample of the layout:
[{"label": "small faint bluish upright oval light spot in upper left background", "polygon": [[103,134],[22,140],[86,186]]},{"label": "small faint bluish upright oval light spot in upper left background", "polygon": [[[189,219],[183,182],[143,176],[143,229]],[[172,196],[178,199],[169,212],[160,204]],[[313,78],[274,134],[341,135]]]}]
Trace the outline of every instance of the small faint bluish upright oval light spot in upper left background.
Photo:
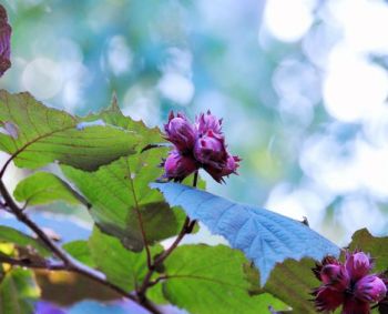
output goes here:
[{"label": "small faint bluish upright oval light spot in upper left background", "polygon": [[123,36],[115,36],[109,42],[108,63],[115,75],[129,72],[132,65],[132,51]]}]

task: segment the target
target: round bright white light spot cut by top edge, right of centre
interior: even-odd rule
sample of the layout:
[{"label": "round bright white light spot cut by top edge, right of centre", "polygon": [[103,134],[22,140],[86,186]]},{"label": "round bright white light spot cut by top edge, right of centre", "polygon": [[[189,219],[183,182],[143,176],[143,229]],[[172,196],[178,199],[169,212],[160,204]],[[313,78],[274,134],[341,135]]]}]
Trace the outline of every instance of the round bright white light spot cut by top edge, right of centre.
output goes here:
[{"label": "round bright white light spot cut by top edge, right of centre", "polygon": [[315,1],[269,0],[264,11],[267,30],[286,42],[299,40],[310,28]]}]

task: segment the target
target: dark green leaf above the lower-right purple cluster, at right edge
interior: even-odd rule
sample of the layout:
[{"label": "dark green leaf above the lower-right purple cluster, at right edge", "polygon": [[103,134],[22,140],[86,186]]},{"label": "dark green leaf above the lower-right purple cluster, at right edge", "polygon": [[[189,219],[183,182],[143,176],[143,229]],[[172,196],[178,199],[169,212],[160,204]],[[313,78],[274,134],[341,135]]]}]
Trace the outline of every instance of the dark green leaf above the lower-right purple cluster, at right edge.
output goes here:
[{"label": "dark green leaf above the lower-right purple cluster, at right edge", "polygon": [[361,250],[375,259],[374,272],[388,271],[388,236],[372,236],[367,229],[356,231],[351,236],[349,250]]}]

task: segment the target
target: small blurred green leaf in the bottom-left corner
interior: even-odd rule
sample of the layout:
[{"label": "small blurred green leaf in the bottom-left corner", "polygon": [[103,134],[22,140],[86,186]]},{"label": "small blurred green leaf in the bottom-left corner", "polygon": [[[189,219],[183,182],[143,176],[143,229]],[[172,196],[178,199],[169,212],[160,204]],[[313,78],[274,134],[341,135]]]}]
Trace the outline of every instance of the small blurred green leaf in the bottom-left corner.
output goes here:
[{"label": "small blurred green leaf in the bottom-left corner", "polygon": [[39,296],[30,271],[14,269],[8,272],[0,284],[1,314],[32,314],[33,301]]}]

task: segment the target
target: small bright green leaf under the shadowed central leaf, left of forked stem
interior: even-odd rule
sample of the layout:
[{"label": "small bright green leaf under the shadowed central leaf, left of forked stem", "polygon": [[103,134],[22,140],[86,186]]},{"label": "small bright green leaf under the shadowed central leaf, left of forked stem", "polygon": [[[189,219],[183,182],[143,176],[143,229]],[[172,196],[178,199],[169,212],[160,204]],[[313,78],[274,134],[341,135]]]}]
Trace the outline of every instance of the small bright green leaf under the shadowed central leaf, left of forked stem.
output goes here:
[{"label": "small bright green leaf under the shadowed central leaf, left of forked stem", "polygon": [[[89,246],[94,263],[110,282],[126,291],[141,284],[147,271],[145,250],[140,254],[127,251],[118,239],[105,235],[98,227],[93,230]],[[152,247],[153,255],[161,252],[161,246]]]}]

